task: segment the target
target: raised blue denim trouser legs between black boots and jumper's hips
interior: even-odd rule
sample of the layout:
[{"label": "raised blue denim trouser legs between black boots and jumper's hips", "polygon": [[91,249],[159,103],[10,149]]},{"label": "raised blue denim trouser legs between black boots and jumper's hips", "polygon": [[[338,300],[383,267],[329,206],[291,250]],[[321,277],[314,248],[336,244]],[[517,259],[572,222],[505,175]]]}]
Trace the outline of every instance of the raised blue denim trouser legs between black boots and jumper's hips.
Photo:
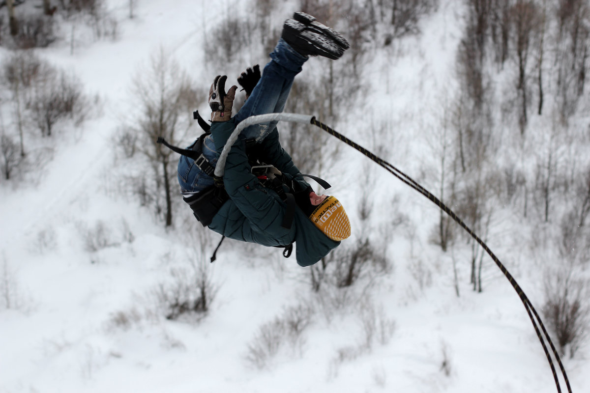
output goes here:
[{"label": "raised blue denim trouser legs between black boots and jumper's hips", "polygon": [[[294,51],[283,38],[278,40],[270,58],[271,61],[264,67],[258,84],[254,87],[244,106],[235,115],[235,124],[253,115],[282,112],[295,75],[301,72],[301,66],[307,61],[307,57]],[[240,137],[244,139],[256,138],[257,141],[261,141],[273,131],[276,125],[276,121],[255,124],[245,128]]]}]

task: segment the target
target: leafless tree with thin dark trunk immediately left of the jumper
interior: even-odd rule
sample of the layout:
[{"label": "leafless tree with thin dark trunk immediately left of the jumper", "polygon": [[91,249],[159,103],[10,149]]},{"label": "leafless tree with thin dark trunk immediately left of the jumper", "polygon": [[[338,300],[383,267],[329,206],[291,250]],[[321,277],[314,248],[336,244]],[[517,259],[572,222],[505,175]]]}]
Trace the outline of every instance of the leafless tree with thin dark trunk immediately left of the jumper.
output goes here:
[{"label": "leafless tree with thin dark trunk immediately left of the jumper", "polygon": [[[139,114],[131,127],[142,136],[139,151],[149,160],[154,193],[164,193],[165,224],[172,225],[171,150],[157,144],[158,137],[177,143],[191,125],[189,114],[196,106],[196,94],[185,71],[163,48],[152,55],[147,67],[137,71],[132,85]],[[174,156],[175,157],[175,156]],[[158,211],[158,207],[156,207]]]}]

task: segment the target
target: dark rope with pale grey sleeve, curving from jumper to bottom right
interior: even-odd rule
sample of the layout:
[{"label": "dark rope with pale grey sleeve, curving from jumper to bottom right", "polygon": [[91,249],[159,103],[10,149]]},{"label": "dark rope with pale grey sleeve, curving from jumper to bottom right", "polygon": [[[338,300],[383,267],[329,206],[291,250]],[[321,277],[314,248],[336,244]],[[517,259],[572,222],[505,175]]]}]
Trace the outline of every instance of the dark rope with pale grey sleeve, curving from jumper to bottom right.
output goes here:
[{"label": "dark rope with pale grey sleeve, curving from jumper to bottom right", "polygon": [[[388,171],[389,173],[391,173],[392,175],[397,177],[399,180],[403,181],[405,184],[412,187],[412,189],[418,191],[420,194],[425,196],[432,203],[437,205],[442,211],[447,213],[448,216],[450,216],[455,222],[457,222],[464,230],[466,230],[466,232],[471,237],[473,237],[473,239],[476,240],[476,242],[481,247],[483,247],[483,249],[491,257],[491,259],[500,268],[500,271],[503,273],[504,276],[506,276],[506,278],[510,282],[510,285],[512,285],[512,288],[516,291],[517,295],[519,296],[520,300],[522,301],[523,305],[525,306],[525,309],[526,309],[527,314],[529,315],[530,321],[533,323],[533,328],[535,329],[535,332],[537,334],[537,338],[539,338],[539,341],[541,342],[541,345],[543,346],[543,351],[545,351],[545,356],[547,357],[547,360],[549,362],[549,366],[550,366],[551,372],[553,374],[553,379],[555,379],[555,386],[557,387],[557,391],[559,393],[561,393],[561,385],[559,382],[557,371],[555,369],[555,364],[553,363],[553,359],[551,357],[549,349],[547,348],[547,344],[549,344],[549,347],[551,348],[551,353],[553,354],[556,361],[558,362],[559,369],[561,371],[563,379],[565,380],[566,387],[568,389],[568,393],[572,393],[572,388],[569,384],[568,375],[565,372],[565,368],[564,368],[563,363],[559,357],[557,349],[555,348],[555,345],[553,345],[553,341],[551,340],[549,333],[547,332],[547,329],[545,328],[545,325],[543,324],[543,321],[541,320],[541,318],[539,316],[539,313],[537,313],[537,311],[533,307],[532,303],[530,302],[529,298],[525,295],[525,292],[522,290],[520,285],[516,282],[514,277],[510,274],[508,269],[506,269],[506,267],[503,265],[503,263],[500,262],[500,259],[498,259],[498,257],[491,251],[490,247],[488,247],[486,245],[486,243],[483,240],[481,240],[481,238],[479,236],[477,236],[476,233],[473,232],[473,230],[471,230],[470,227],[468,227],[467,224],[464,223],[463,220],[461,220],[461,218],[457,216],[457,214],[455,214],[453,212],[453,210],[451,210],[447,205],[442,203],[441,200],[438,199],[437,197],[435,197],[434,194],[432,194],[430,191],[428,191],[427,189],[422,187],[415,180],[413,180],[411,177],[409,177],[407,174],[405,174],[401,170],[394,167],[392,164],[390,164],[387,161],[383,160],[382,158],[376,156],[375,154],[371,153],[371,151],[366,150],[366,148],[353,142],[352,140],[343,136],[342,134],[338,133],[337,131],[333,130],[332,128],[326,126],[326,124],[323,124],[320,121],[317,121],[315,116],[293,114],[293,113],[270,113],[270,114],[263,114],[263,115],[255,115],[255,116],[251,116],[251,117],[246,118],[245,120],[241,121],[240,124],[238,124],[238,126],[235,128],[234,132],[231,134],[230,138],[228,139],[227,143],[225,144],[225,146],[221,152],[221,156],[219,157],[219,160],[217,161],[217,166],[215,167],[215,176],[218,176],[218,177],[223,176],[223,169],[225,167],[225,159],[227,158],[227,154],[242,129],[244,129],[245,127],[251,126],[252,124],[267,123],[268,121],[273,121],[273,120],[286,120],[286,121],[295,121],[297,123],[310,123],[310,124],[313,124],[313,126],[317,126],[317,127],[321,128],[322,130],[326,131],[326,133],[330,134],[331,136],[338,138],[341,142],[346,143],[348,146],[350,146],[352,148],[355,148],[360,153],[364,154],[366,157],[368,157],[372,161],[374,161],[376,164],[383,167],[386,171]],[[219,164],[219,163],[221,163],[221,164]]]}]

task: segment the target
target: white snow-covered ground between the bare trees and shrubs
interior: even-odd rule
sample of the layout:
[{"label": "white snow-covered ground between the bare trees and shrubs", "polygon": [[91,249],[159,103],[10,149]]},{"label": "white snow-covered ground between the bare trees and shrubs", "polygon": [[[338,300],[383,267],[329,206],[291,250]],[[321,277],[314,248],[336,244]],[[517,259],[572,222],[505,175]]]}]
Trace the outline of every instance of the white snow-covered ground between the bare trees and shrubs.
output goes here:
[{"label": "white snow-covered ground between the bare trees and shrubs", "polygon": [[[67,41],[40,51],[75,70],[103,108],[75,138],[56,147],[38,186],[0,190],[2,276],[17,302],[0,311],[0,392],[555,391],[545,355],[509,283],[489,266],[486,288],[476,294],[463,266],[457,298],[450,256],[427,242],[437,219],[434,206],[378,170],[376,176],[391,184],[385,193],[399,193],[406,213],[421,225],[416,237],[394,230],[389,255],[394,269],[370,290],[345,292],[346,306],[323,312],[330,294],[314,295],[307,270],[293,258],[283,260],[271,250],[260,252],[264,258],[244,260],[234,245],[222,248],[209,267],[218,293],[205,319],[170,322],[146,315],[150,291],[169,269],[189,267],[186,261],[194,257],[174,232],[109,190],[116,187],[109,177],[112,136],[129,110],[131,75],[160,45],[194,78],[211,77],[199,68],[199,40],[215,13],[234,6],[223,3],[216,8],[205,1],[145,0],[132,20],[122,5],[112,8],[120,27],[116,42],[80,45],[73,55]],[[441,4],[421,37],[408,44],[414,49],[368,66],[383,82],[376,84],[387,98],[380,113],[405,130],[394,136],[399,153],[389,151],[386,159],[410,174],[417,166],[409,160],[419,146],[408,141],[420,140],[420,127],[428,124],[424,108],[453,88],[448,75],[461,34],[460,8],[454,1]],[[389,201],[383,191],[376,190],[376,197]],[[347,198],[355,196],[339,196],[345,206]],[[81,228],[99,220],[119,244],[90,254]],[[125,229],[133,233],[130,242]],[[516,244],[494,246],[501,247],[501,257],[539,305],[538,278],[516,266],[532,266],[526,252]],[[422,285],[412,275],[420,266],[430,273]],[[260,326],[301,304],[315,312],[297,342],[284,344],[266,368],[248,364],[248,345]],[[135,315],[136,321],[117,324],[117,313]],[[371,321],[374,335],[363,327]],[[588,355],[586,349],[576,360],[565,359],[576,393],[590,391]]]}]

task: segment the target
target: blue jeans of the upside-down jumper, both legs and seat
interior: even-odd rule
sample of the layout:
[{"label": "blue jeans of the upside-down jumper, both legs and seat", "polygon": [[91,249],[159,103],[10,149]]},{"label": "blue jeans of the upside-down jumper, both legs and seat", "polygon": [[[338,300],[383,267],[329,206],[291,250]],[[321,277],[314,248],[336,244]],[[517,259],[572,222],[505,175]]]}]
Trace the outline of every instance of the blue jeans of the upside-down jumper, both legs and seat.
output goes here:
[{"label": "blue jeans of the upside-down jumper, both legs and seat", "polygon": [[[234,116],[233,121],[236,125],[253,115],[282,112],[295,75],[301,72],[301,66],[307,61],[307,57],[294,51],[283,38],[278,40],[270,58],[271,61],[264,67],[262,77],[250,97]],[[242,130],[240,139],[255,138],[256,141],[261,141],[276,126],[277,121],[255,124]],[[203,154],[211,164],[217,163],[218,154],[211,135],[205,138]],[[212,186],[213,178],[199,169],[191,158],[181,156],[178,161],[178,183],[183,193],[194,193]]]}]

